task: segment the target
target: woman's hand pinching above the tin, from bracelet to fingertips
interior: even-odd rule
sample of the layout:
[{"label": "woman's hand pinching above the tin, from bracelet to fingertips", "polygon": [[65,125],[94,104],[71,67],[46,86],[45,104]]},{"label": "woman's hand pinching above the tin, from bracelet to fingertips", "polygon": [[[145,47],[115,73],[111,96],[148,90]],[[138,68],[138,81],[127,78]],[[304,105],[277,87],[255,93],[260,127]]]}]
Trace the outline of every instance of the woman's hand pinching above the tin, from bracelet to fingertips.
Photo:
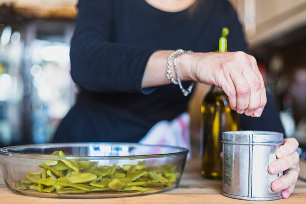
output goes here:
[{"label": "woman's hand pinching above the tin, from bracelet to fingertips", "polygon": [[238,113],[253,117],[262,114],[266,92],[256,59],[244,52],[195,53],[192,79],[220,87],[230,106]]}]

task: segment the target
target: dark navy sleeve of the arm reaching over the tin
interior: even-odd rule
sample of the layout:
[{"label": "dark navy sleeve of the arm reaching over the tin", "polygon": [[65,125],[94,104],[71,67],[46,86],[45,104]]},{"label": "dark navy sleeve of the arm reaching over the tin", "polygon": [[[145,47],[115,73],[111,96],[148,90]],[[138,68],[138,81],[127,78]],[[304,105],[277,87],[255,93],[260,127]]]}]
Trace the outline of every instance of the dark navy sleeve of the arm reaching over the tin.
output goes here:
[{"label": "dark navy sleeve of the arm reaching over the tin", "polygon": [[113,43],[114,0],[79,0],[71,40],[71,76],[89,91],[143,92],[141,82],[155,51]]}]

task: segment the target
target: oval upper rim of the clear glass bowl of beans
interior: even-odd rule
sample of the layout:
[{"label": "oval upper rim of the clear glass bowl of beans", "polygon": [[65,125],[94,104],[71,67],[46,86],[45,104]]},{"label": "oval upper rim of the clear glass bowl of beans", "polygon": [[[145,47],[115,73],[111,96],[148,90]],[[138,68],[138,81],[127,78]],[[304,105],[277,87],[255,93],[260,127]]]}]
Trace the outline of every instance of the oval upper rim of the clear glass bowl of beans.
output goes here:
[{"label": "oval upper rim of the clear glass bowl of beans", "polygon": [[[148,155],[125,155],[125,156],[55,156],[55,155],[43,155],[43,154],[22,154],[9,152],[10,149],[20,149],[20,148],[39,148],[39,147],[73,147],[73,146],[88,146],[88,145],[127,145],[127,146],[144,146],[144,147],[166,147],[175,148],[180,151],[174,153],[165,154],[148,154]],[[153,159],[153,158],[166,158],[174,157],[178,155],[186,155],[189,152],[187,148],[172,146],[172,145],[154,145],[154,144],[142,144],[142,143],[132,143],[132,142],[69,142],[69,143],[43,143],[43,144],[26,144],[26,145],[16,145],[0,148],[0,155],[17,157],[17,158],[28,158],[28,159],[66,159],[66,160],[110,160],[110,159]]]}]

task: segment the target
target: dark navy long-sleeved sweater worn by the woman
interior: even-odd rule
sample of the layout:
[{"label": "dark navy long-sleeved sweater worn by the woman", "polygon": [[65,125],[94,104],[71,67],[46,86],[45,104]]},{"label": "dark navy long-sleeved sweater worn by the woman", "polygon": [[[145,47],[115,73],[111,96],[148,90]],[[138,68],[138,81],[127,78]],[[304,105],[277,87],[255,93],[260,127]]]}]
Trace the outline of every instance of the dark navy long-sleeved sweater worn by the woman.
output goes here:
[{"label": "dark navy long-sleeved sweater worn by the woman", "polygon": [[[189,97],[178,86],[141,88],[144,69],[156,50],[218,50],[226,26],[228,49],[248,52],[227,0],[204,0],[193,13],[164,12],[145,0],[79,0],[78,8],[70,59],[71,76],[81,92],[54,142],[137,142],[158,121],[185,112]],[[270,98],[260,118],[242,115],[241,127],[283,132]]]}]

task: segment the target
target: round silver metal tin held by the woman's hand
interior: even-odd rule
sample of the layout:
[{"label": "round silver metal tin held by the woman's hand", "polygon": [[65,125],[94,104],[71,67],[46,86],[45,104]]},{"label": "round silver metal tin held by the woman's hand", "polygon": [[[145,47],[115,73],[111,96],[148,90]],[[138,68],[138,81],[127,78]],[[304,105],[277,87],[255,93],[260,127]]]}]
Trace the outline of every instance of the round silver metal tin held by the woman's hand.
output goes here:
[{"label": "round silver metal tin held by the woman's hand", "polygon": [[281,199],[273,192],[272,181],[283,175],[271,175],[268,166],[276,160],[276,150],[284,143],[284,135],[267,131],[223,132],[222,194],[250,201]]}]

